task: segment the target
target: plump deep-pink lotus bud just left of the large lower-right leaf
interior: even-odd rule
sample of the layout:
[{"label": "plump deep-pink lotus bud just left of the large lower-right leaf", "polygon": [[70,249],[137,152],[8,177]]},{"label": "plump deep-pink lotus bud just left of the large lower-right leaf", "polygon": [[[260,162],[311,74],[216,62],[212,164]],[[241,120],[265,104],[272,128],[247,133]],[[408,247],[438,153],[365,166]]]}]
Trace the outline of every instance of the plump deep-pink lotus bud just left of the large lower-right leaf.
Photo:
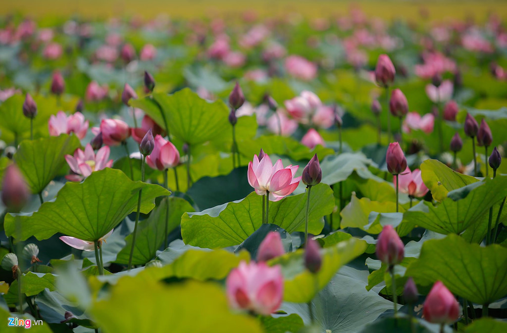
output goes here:
[{"label": "plump deep-pink lotus bud just left of the large lower-right leaf", "polygon": [[379,260],[388,266],[402,262],[405,248],[400,236],[391,225],[384,226],[382,229],[377,240],[376,253]]}]

